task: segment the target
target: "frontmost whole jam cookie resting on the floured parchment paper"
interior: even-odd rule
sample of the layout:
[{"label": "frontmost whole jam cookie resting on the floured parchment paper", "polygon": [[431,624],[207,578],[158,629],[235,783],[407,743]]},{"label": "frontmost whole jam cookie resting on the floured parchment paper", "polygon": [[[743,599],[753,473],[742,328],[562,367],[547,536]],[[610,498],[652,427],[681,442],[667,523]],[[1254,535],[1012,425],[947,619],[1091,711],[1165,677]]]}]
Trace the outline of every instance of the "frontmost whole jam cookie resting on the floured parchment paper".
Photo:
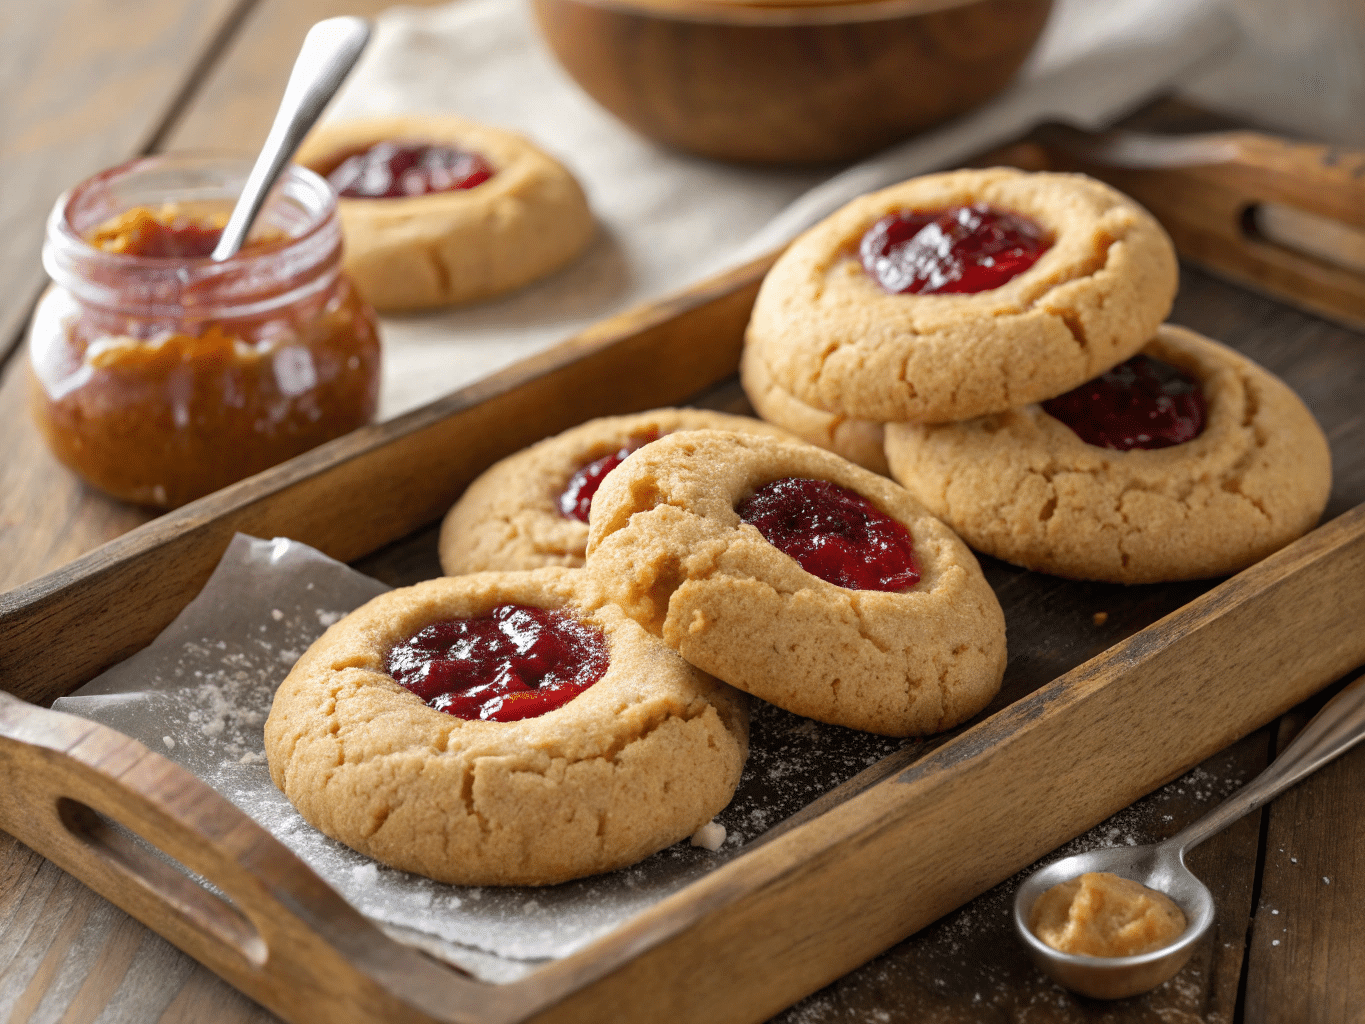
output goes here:
[{"label": "frontmost whole jam cookie resting on the floured parchment paper", "polygon": [[738,784],[745,698],[586,584],[445,578],[352,612],[276,694],[274,784],[328,836],[460,885],[550,885],[691,836]]}]

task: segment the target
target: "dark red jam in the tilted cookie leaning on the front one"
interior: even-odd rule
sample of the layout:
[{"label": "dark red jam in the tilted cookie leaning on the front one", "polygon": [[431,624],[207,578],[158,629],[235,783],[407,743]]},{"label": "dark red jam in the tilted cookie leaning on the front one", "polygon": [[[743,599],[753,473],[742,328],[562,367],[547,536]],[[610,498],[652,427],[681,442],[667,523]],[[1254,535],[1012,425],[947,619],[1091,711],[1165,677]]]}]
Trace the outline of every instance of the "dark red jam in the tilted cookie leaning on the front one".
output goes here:
[{"label": "dark red jam in the tilted cookie leaning on the front one", "polygon": [[826,583],[906,590],[920,580],[910,531],[837,483],[784,477],[759,487],[734,511]]}]

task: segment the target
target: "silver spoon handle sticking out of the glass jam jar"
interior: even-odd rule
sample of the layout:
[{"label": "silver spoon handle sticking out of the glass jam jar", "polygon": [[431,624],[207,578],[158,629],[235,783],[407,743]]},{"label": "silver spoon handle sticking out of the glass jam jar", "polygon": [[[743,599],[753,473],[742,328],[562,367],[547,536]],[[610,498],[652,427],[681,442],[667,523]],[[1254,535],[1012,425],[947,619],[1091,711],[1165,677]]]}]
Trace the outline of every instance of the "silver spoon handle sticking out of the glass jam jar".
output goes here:
[{"label": "silver spoon handle sticking out of the glass jam jar", "polygon": [[328,18],[308,29],[293,61],[293,71],[289,72],[289,83],[284,87],[284,98],[280,100],[270,134],[251,167],[218,244],[213,247],[213,259],[229,259],[242,248],[284,165],[351,74],[369,41],[370,23],[364,18]]}]

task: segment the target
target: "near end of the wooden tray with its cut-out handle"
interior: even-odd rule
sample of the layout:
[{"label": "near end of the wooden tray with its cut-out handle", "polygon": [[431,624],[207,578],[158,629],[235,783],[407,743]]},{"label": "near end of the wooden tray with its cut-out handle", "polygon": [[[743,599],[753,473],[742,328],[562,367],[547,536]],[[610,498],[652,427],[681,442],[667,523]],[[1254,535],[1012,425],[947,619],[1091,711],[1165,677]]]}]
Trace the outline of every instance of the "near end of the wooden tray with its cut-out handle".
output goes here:
[{"label": "near end of the wooden tray with its cut-out handle", "polygon": [[0,692],[0,827],[285,1020],[516,1016],[511,991],[394,942],[209,785],[108,726]]}]

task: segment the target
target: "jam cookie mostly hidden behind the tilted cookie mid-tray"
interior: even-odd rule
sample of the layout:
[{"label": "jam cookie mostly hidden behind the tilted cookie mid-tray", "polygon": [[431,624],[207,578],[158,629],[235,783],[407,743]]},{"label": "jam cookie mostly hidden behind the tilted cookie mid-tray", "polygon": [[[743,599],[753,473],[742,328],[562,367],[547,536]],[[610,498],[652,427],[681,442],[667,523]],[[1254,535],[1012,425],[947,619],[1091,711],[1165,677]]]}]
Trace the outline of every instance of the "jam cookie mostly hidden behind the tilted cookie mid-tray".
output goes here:
[{"label": "jam cookie mostly hidden behind the tilted cookie mid-tray", "polygon": [[441,568],[450,576],[580,568],[598,485],[636,448],[678,430],[790,437],[751,416],[695,408],[591,419],[508,456],[474,481],[441,524]]}]

